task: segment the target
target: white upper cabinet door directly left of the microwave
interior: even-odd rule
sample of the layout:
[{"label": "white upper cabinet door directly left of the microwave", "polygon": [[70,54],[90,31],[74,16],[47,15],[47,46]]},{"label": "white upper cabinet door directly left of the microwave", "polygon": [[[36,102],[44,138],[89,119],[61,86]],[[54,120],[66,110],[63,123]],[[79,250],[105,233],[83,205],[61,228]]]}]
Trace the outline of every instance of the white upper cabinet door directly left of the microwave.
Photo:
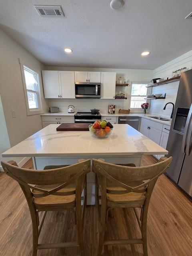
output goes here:
[{"label": "white upper cabinet door directly left of the microwave", "polygon": [[63,99],[75,98],[74,71],[59,71],[59,82]]}]

